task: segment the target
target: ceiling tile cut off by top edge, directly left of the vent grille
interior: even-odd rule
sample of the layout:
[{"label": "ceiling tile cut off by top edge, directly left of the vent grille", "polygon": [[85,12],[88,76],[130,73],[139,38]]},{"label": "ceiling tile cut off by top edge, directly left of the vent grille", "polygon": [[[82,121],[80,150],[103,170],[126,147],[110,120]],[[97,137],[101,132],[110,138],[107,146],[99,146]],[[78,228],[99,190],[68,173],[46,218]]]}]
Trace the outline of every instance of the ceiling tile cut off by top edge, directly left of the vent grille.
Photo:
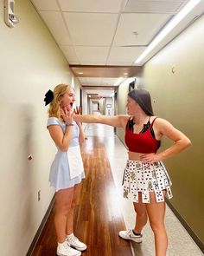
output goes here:
[{"label": "ceiling tile cut off by top edge, directly left of the vent grille", "polygon": [[123,0],[58,0],[62,11],[118,13]]}]

